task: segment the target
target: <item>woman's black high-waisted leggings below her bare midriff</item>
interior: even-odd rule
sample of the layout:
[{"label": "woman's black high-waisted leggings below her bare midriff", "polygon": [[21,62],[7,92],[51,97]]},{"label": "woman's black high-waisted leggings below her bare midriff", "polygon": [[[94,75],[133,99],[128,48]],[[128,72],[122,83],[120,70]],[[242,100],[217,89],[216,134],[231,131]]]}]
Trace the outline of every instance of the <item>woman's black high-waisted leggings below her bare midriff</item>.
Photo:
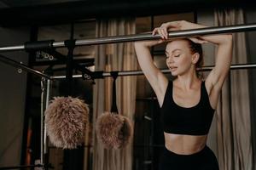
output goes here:
[{"label": "woman's black high-waisted leggings below her bare midriff", "polygon": [[159,170],[218,170],[218,161],[212,150],[205,146],[192,155],[179,155],[166,147],[160,158]]}]

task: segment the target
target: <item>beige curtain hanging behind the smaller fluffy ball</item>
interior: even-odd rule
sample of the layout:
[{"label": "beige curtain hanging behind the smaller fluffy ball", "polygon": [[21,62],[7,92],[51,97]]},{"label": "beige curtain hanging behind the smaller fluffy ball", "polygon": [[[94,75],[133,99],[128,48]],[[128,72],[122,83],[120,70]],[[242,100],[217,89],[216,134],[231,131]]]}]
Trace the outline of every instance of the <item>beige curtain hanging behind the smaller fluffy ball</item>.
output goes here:
[{"label": "beige curtain hanging behind the smaller fluffy ball", "polygon": [[[98,20],[96,37],[135,34],[135,19]],[[115,43],[96,46],[96,71],[137,70],[137,58],[133,43]],[[131,144],[121,150],[106,150],[96,139],[96,119],[104,111],[110,111],[112,102],[111,77],[96,80],[93,94],[93,169],[94,170],[131,170]],[[133,123],[136,104],[136,77],[117,78],[117,106],[119,114],[127,116]]]}]

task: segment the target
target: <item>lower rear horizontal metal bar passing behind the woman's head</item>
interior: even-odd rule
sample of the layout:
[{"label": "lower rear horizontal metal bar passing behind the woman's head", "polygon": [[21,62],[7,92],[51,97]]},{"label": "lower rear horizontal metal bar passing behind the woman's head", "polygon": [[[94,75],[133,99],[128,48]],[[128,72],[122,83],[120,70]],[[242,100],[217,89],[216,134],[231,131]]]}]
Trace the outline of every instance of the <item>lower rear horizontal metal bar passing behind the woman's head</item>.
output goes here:
[{"label": "lower rear horizontal metal bar passing behind the woman's head", "polygon": [[[201,69],[198,69],[198,71],[211,71],[213,69],[214,65],[209,66],[203,66]],[[241,69],[252,69],[256,68],[256,64],[238,64],[238,65],[230,65],[230,70],[241,70]],[[161,72],[164,74],[170,73],[171,71],[169,69],[161,69]],[[95,71],[97,72],[97,71]],[[119,71],[118,76],[137,76],[137,75],[143,75],[143,71]],[[102,73],[103,77],[112,77],[110,71],[106,71]],[[83,75],[73,75],[73,78],[82,78]],[[66,76],[53,76],[50,77],[51,79],[64,79]]]}]

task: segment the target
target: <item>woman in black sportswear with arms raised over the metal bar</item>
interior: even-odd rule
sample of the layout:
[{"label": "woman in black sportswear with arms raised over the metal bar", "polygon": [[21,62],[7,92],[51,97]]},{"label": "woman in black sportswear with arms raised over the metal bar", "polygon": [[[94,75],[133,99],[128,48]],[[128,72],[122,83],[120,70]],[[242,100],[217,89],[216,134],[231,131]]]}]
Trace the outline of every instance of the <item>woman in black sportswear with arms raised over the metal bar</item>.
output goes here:
[{"label": "woman in black sportswear with arms raised over the metal bar", "polygon": [[[168,31],[203,28],[188,21],[173,21],[155,28],[161,40],[135,42],[137,59],[157,96],[165,135],[160,170],[217,170],[218,161],[207,147],[207,133],[218,104],[218,96],[230,69],[232,36],[211,35],[174,39],[166,44],[168,81],[154,65],[150,48],[166,42]],[[215,66],[203,81],[197,72],[203,56],[201,43],[218,45]]]}]

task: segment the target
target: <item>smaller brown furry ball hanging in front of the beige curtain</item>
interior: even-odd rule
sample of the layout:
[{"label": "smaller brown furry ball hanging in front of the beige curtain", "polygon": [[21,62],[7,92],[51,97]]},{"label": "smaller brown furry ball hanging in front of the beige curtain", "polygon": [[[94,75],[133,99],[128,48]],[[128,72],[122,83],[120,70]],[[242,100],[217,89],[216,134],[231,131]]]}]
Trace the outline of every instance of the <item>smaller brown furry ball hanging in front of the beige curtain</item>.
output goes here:
[{"label": "smaller brown furry ball hanging in front of the beige curtain", "polygon": [[96,122],[96,134],[106,149],[124,148],[131,139],[131,122],[125,116],[105,112]]}]

